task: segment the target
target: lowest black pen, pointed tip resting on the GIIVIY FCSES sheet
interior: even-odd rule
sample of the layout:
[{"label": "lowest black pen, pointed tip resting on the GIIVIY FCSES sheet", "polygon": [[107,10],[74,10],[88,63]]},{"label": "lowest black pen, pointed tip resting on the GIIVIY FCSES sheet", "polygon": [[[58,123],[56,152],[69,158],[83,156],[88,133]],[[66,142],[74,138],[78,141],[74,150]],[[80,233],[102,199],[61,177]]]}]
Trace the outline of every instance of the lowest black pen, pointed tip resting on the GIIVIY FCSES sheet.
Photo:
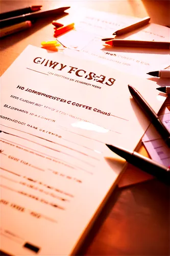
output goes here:
[{"label": "lowest black pen, pointed tip resting on the GIIVIY FCSES sheet", "polygon": [[128,151],[124,148],[106,144],[112,152],[126,159],[129,163],[144,170],[144,172],[155,176],[160,181],[170,185],[170,169],[164,165],[144,157],[137,152]]}]

